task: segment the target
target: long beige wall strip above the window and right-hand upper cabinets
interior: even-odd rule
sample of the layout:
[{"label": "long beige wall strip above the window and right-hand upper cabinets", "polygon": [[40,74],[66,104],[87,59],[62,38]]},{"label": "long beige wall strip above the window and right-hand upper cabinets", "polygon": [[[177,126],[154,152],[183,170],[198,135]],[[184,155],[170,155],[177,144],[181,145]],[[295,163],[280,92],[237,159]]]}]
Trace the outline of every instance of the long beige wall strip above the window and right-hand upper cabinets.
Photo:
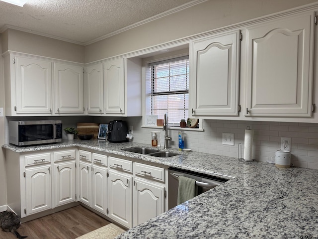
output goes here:
[{"label": "long beige wall strip above the window and right-hand upper cabinets", "polygon": [[208,0],[85,46],[85,62],[136,51],[317,0]]}]

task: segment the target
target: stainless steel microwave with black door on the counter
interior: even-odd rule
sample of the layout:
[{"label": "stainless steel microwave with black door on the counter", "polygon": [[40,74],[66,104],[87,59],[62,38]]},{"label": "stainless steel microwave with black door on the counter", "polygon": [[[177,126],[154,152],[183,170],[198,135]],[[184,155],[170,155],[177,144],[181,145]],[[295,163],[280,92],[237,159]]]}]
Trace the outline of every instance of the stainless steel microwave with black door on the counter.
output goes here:
[{"label": "stainless steel microwave with black door on the counter", "polygon": [[25,146],[62,142],[62,120],[9,120],[9,143]]}]

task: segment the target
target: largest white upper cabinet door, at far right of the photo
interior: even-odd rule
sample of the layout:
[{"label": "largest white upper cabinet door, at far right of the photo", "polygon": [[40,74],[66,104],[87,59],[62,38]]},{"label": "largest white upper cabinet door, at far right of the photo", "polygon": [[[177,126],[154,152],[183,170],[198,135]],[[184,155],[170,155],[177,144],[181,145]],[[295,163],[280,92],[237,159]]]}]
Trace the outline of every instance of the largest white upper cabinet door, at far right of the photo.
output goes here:
[{"label": "largest white upper cabinet door, at far right of the photo", "polygon": [[246,29],[245,116],[310,117],[314,13]]}]

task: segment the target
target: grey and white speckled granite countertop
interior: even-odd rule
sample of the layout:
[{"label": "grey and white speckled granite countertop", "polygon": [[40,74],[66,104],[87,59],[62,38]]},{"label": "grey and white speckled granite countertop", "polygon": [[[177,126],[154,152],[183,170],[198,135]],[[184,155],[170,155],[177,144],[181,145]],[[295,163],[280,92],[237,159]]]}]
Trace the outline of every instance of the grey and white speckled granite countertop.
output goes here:
[{"label": "grey and white speckled granite countertop", "polygon": [[139,143],[74,140],[35,148],[21,149],[8,144],[2,147],[29,152],[72,146],[230,179],[116,239],[318,239],[318,170],[281,169],[264,162],[243,162],[237,158],[199,152],[180,152],[178,156],[155,158],[121,150],[135,146],[151,147]]}]

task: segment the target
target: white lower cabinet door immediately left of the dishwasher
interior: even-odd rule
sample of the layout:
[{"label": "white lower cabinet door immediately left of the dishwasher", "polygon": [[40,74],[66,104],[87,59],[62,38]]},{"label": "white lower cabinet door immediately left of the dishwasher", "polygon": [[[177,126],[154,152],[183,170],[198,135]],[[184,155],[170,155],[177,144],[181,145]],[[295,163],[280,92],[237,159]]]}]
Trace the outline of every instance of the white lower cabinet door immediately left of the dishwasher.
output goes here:
[{"label": "white lower cabinet door immediately left of the dishwasher", "polygon": [[163,186],[135,179],[134,181],[134,227],[164,212]]}]

